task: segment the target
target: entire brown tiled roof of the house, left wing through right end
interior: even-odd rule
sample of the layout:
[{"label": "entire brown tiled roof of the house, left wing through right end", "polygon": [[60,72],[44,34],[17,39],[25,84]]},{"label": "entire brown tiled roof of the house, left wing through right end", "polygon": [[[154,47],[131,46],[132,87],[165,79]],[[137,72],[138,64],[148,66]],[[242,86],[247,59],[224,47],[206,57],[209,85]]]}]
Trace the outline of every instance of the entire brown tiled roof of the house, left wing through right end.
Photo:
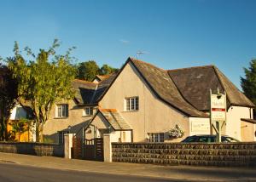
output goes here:
[{"label": "entire brown tiled roof of the house, left wing through right end", "polygon": [[[128,58],[125,65],[130,62],[160,100],[189,117],[208,117],[203,111],[209,111],[210,108],[210,88],[213,92],[217,88],[221,93],[225,91],[228,105],[254,107],[253,103],[213,65],[166,71],[133,58]],[[75,80],[73,85],[79,104],[94,105],[102,100],[125,65],[119,73],[99,83]]]}]

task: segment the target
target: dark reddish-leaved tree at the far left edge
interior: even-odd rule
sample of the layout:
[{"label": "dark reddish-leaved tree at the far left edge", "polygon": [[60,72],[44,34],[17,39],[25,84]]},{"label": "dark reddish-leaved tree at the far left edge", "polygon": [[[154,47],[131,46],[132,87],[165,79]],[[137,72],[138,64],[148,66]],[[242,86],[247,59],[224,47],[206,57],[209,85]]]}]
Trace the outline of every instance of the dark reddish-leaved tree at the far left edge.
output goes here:
[{"label": "dark reddish-leaved tree at the far left edge", "polygon": [[9,117],[18,97],[18,84],[12,77],[12,71],[0,63],[0,140],[8,140]]}]

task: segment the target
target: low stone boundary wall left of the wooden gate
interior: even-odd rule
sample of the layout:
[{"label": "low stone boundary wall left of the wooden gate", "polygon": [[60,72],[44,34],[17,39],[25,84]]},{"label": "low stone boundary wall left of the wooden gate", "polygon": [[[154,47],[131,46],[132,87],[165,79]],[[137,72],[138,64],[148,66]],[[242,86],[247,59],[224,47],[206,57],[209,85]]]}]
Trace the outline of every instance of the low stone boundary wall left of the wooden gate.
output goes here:
[{"label": "low stone boundary wall left of the wooden gate", "polygon": [[64,145],[32,142],[0,142],[0,152],[33,156],[64,156]]}]

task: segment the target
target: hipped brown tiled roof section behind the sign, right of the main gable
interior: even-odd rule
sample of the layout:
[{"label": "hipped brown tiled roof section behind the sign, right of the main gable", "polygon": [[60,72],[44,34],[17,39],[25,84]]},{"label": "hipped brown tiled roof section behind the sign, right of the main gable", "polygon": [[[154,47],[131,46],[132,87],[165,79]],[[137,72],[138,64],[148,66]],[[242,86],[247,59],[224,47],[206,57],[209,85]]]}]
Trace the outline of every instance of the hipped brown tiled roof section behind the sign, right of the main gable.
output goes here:
[{"label": "hipped brown tiled roof section behind the sign, right of the main gable", "polygon": [[210,110],[210,88],[227,94],[228,105],[253,107],[253,103],[214,65],[168,71],[178,91],[191,105],[201,111]]}]

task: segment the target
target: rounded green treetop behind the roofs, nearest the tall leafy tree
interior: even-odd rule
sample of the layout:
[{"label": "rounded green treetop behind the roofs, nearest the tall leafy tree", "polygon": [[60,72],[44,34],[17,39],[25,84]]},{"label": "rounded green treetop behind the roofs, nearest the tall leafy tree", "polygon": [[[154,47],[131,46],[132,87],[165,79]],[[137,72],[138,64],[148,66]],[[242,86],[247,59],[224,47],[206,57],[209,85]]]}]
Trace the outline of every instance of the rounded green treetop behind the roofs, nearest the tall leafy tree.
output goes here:
[{"label": "rounded green treetop behind the roofs, nearest the tall leafy tree", "polygon": [[89,60],[79,63],[77,75],[79,79],[92,81],[97,74],[99,74],[99,66],[96,64],[96,61]]}]

